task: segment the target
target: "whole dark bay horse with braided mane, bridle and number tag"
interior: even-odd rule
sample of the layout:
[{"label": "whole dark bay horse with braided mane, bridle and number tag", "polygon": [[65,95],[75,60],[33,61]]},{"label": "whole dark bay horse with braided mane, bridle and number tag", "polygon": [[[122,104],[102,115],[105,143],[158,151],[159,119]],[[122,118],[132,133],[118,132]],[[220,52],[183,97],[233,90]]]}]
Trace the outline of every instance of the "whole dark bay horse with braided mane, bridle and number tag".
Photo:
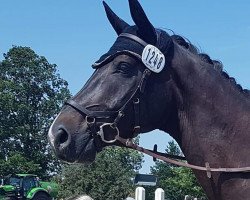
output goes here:
[{"label": "whole dark bay horse with braided mane, bridle and number tag", "polygon": [[[250,166],[250,92],[222,64],[178,35],[156,29],[137,0],[129,0],[135,26],[104,2],[118,38],[94,65],[85,86],[65,103],[49,140],[67,162],[86,163],[116,136],[160,129],[180,145],[188,163]],[[250,173],[194,173],[211,200],[250,199]]]}]

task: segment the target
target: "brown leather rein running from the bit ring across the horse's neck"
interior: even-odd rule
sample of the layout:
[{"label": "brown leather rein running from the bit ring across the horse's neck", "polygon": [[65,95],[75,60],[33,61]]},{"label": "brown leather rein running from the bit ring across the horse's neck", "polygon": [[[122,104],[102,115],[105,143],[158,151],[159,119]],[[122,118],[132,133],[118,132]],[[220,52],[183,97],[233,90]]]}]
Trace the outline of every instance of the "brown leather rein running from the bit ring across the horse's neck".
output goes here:
[{"label": "brown leather rein running from the bit ring across the horse's neck", "polygon": [[137,144],[135,144],[133,142],[132,139],[124,139],[120,136],[116,136],[117,141],[121,142],[123,145],[125,145],[128,148],[137,150],[139,152],[142,152],[144,154],[147,154],[149,156],[152,156],[153,158],[157,158],[159,160],[165,161],[167,163],[171,163],[177,166],[181,166],[181,167],[187,167],[187,168],[191,168],[191,169],[195,169],[195,170],[199,170],[199,171],[206,171],[207,172],[207,176],[208,178],[211,178],[211,172],[249,172],[250,171],[250,167],[239,167],[239,168],[211,168],[209,166],[209,163],[206,163],[206,167],[201,167],[201,166],[197,166],[197,165],[192,165],[189,163],[184,163],[184,162],[180,162],[177,160],[173,160],[161,155],[158,155],[148,149],[145,149],[141,146],[138,146]]}]

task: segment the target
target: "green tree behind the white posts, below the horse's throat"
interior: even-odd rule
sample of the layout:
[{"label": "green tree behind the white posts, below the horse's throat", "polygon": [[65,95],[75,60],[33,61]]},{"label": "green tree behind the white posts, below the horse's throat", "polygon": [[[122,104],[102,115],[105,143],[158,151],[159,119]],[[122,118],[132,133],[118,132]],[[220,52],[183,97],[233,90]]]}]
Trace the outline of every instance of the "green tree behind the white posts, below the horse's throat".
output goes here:
[{"label": "green tree behind the white posts, below the horse's throat", "polygon": [[[172,155],[182,155],[182,152],[174,141],[168,143],[165,151]],[[151,168],[151,173],[158,177],[156,187],[164,189],[167,199],[183,200],[185,195],[198,198],[205,197],[202,188],[189,168],[177,167],[169,163],[156,161],[155,166]],[[150,198],[152,198],[152,193],[150,194]]]}]

